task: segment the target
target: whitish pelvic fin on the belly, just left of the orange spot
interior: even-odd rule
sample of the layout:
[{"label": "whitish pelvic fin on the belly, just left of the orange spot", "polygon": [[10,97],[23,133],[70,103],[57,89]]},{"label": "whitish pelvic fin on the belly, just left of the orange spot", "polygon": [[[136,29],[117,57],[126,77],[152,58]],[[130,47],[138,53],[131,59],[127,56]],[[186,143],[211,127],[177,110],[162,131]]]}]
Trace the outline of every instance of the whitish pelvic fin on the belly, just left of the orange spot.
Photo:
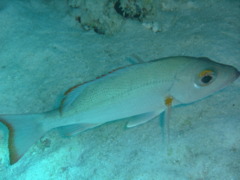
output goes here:
[{"label": "whitish pelvic fin on the belly, just left of the orange spot", "polygon": [[143,123],[146,123],[151,119],[155,118],[156,116],[158,116],[159,114],[160,112],[156,111],[133,116],[131,117],[131,120],[128,122],[127,128],[135,127]]}]

